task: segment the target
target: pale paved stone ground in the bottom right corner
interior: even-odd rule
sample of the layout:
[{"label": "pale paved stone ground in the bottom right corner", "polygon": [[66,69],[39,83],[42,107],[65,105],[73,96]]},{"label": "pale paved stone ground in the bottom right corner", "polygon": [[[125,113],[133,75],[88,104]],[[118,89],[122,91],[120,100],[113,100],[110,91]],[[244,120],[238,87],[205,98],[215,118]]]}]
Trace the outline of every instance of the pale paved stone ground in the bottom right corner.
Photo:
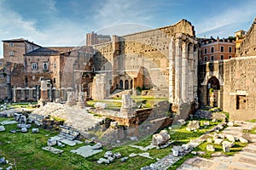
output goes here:
[{"label": "pale paved stone ground in the bottom right corner", "polygon": [[243,129],[256,127],[256,123],[236,122],[237,127],[227,127],[225,134],[232,134],[236,137],[243,136],[249,140],[249,144],[235,156],[219,156],[211,159],[195,156],[183,163],[178,170],[254,170],[256,169],[256,135],[242,133]]}]

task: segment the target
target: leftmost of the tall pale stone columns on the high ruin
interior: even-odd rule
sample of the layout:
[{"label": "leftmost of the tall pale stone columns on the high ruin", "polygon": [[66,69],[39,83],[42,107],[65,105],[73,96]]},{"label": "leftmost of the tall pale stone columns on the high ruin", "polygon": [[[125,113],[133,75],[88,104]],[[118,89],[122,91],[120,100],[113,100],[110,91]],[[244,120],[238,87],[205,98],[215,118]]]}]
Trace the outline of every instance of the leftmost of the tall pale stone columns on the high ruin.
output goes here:
[{"label": "leftmost of the tall pale stone columns on the high ruin", "polygon": [[175,42],[173,37],[169,44],[169,102],[175,99]]}]

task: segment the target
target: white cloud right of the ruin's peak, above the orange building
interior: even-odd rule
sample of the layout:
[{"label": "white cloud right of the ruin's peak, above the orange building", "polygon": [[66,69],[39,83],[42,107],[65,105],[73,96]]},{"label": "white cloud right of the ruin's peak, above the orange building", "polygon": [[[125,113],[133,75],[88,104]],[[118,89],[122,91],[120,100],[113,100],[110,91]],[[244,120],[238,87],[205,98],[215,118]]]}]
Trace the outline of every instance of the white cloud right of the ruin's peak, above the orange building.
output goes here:
[{"label": "white cloud right of the ruin's peak, above the orange building", "polygon": [[234,26],[245,25],[248,20],[251,20],[251,16],[256,14],[254,8],[256,6],[255,1],[243,4],[243,6],[239,7],[229,6],[229,8],[224,10],[222,13],[212,17],[207,14],[207,17],[204,20],[195,24],[197,36],[206,34],[207,36],[230,35],[230,33],[234,33],[229,32],[230,30],[240,30],[241,28],[234,28]]}]

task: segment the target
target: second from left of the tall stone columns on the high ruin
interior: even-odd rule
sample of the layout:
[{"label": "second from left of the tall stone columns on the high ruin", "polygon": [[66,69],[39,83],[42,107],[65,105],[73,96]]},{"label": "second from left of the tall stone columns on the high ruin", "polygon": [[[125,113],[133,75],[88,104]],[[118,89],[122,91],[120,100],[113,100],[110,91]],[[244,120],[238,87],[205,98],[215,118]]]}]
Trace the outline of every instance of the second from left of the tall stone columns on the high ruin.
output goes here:
[{"label": "second from left of the tall stone columns on the high ruin", "polygon": [[181,45],[182,40],[177,38],[175,41],[175,104],[179,104],[181,100]]}]

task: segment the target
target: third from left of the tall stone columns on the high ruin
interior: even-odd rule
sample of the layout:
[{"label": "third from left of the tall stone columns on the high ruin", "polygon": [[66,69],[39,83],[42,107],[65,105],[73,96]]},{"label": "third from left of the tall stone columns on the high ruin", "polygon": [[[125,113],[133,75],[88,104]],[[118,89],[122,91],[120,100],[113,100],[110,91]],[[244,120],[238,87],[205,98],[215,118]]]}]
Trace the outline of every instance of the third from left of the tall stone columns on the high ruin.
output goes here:
[{"label": "third from left of the tall stone columns on the high ruin", "polygon": [[188,102],[188,42],[183,42],[183,52],[182,52],[182,99],[184,103]]}]

